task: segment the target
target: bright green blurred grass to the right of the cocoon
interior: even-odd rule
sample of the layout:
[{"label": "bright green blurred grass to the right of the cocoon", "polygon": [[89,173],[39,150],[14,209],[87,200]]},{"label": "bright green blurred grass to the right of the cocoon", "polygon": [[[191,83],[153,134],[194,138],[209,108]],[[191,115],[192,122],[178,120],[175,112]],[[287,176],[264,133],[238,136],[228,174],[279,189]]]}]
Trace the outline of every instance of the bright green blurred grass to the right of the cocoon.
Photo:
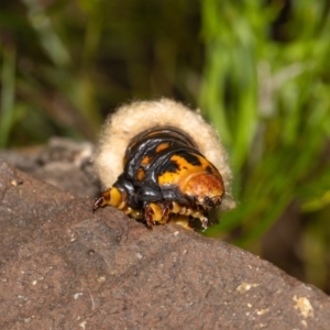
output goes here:
[{"label": "bright green blurred grass to the right of the cocoon", "polygon": [[231,155],[239,200],[208,235],[239,229],[237,244],[253,245],[295,204],[302,226],[297,249],[302,242],[314,280],[319,265],[326,274],[330,248],[329,4],[292,1],[279,22],[282,2],[263,3],[202,2],[200,105]]}]

